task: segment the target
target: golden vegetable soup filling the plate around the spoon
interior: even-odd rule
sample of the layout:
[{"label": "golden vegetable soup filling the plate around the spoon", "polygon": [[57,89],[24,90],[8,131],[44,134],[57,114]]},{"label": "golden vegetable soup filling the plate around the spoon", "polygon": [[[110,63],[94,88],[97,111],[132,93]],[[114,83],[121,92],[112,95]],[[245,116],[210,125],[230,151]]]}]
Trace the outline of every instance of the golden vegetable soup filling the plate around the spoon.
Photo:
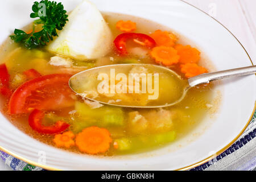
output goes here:
[{"label": "golden vegetable soup filling the plate around the spoon", "polygon": [[[168,28],[133,16],[103,15],[116,44],[107,55],[97,59],[61,56],[48,51],[47,47],[26,49],[8,39],[1,51],[2,65],[6,65],[10,76],[6,84],[9,91],[1,92],[2,113],[31,137],[82,154],[135,154],[163,147],[190,133],[213,107],[213,84],[196,86],[179,104],[158,109],[101,105],[83,100],[69,89],[72,75],[110,64],[163,65],[183,80],[207,72],[207,68],[201,67],[206,60],[200,57],[200,52],[186,46],[191,42]],[[130,23],[122,24],[127,20]],[[23,30],[30,31],[30,28],[31,24]],[[40,28],[36,26],[36,30]],[[115,38],[131,32],[135,36],[125,39],[127,53],[118,51]],[[153,47],[145,46],[151,40],[148,36],[155,40]],[[129,71],[123,68],[119,72]],[[168,90],[174,81],[163,76],[159,82],[159,92],[163,95],[159,100],[172,97]],[[135,98],[105,95],[104,99],[145,105],[148,101],[145,96],[147,94]],[[157,104],[159,100],[154,102]]]}]

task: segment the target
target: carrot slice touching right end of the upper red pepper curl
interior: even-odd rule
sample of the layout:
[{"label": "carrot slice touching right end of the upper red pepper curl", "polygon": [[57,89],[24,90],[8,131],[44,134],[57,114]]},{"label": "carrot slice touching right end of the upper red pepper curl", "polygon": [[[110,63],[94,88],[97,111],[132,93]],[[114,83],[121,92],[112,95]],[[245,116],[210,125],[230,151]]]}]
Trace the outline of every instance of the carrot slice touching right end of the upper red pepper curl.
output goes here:
[{"label": "carrot slice touching right end of the upper red pepper curl", "polygon": [[173,47],[177,41],[176,36],[167,31],[156,30],[150,36],[158,46]]}]

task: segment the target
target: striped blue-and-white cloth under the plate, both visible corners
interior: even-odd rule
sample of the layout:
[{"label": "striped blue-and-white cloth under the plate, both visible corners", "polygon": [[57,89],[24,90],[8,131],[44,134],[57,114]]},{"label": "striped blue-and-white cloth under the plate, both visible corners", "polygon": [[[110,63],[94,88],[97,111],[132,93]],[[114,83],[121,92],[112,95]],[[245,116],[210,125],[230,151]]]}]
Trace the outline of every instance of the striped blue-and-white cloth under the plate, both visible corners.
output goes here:
[{"label": "striped blue-and-white cloth under the plate, both visible corners", "polygon": [[[15,171],[42,171],[44,169],[27,164],[13,156],[0,151],[0,157],[5,164]],[[256,112],[253,119],[241,137],[223,152],[209,162],[191,169],[203,170],[254,170],[256,168]]]}]

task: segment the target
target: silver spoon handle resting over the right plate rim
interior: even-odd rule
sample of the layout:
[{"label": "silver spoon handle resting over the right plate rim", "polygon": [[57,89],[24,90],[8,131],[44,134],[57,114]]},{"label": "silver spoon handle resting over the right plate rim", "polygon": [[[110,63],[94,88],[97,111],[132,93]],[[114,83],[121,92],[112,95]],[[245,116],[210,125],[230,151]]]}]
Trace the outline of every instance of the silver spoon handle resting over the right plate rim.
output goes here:
[{"label": "silver spoon handle resting over the right plate rim", "polygon": [[245,75],[252,75],[256,73],[256,66],[229,69],[226,71],[205,73],[199,76],[191,77],[188,79],[189,86],[196,86],[200,84],[208,84],[213,80],[221,80],[223,78],[240,77]]}]

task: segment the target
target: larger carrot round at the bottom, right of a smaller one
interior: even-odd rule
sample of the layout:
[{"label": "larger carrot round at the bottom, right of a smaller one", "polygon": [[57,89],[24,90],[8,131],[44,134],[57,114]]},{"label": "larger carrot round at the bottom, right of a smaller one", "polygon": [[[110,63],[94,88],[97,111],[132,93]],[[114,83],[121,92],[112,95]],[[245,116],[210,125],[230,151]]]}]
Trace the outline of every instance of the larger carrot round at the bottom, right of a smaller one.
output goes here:
[{"label": "larger carrot round at the bottom, right of a smaller one", "polygon": [[109,150],[111,142],[109,131],[96,126],[88,127],[76,136],[77,147],[87,154],[104,153]]}]

